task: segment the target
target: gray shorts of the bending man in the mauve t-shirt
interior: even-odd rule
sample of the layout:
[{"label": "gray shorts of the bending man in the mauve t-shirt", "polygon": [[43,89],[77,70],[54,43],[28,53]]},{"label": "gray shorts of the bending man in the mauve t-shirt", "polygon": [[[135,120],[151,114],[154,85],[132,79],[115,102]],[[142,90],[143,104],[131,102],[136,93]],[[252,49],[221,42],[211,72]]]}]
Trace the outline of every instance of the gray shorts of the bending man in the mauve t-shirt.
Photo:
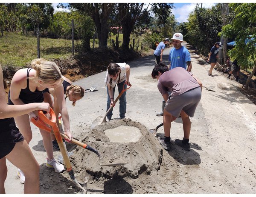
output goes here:
[{"label": "gray shorts of the bending man in the mauve t-shirt", "polygon": [[185,111],[188,116],[194,117],[195,109],[201,100],[201,95],[201,87],[194,88],[177,96],[170,95],[166,101],[165,109],[175,117],[180,115],[181,110]]}]

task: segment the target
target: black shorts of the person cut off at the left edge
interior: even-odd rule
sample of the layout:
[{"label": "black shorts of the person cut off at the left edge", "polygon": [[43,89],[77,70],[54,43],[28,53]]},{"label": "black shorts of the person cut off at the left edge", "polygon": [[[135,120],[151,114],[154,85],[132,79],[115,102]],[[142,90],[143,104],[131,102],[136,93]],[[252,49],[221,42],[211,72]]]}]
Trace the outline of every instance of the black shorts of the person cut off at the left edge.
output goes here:
[{"label": "black shorts of the person cut off at the left edge", "polygon": [[24,140],[15,125],[14,118],[0,120],[0,159],[9,154],[17,142]]}]

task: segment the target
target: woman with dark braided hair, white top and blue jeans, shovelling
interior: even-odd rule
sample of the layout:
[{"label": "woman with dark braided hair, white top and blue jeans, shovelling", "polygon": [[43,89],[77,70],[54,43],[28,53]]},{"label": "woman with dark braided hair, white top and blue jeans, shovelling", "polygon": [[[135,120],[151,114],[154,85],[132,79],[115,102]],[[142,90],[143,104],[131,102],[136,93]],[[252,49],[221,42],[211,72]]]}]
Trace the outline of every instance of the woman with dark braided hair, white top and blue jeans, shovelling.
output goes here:
[{"label": "woman with dark braided hair, white top and blue jeans, shovelling", "polygon": [[[131,86],[129,81],[130,78],[130,66],[126,63],[110,63],[108,65],[108,70],[105,78],[105,83],[108,86],[107,94],[107,110],[110,106],[114,105],[114,93],[116,84],[118,87],[118,92],[120,93],[123,89],[126,89],[127,85]],[[125,85],[124,85],[125,84]],[[125,118],[126,113],[126,91],[119,98],[119,115],[120,118]],[[113,109],[107,114],[107,121],[111,120],[113,115]]]}]

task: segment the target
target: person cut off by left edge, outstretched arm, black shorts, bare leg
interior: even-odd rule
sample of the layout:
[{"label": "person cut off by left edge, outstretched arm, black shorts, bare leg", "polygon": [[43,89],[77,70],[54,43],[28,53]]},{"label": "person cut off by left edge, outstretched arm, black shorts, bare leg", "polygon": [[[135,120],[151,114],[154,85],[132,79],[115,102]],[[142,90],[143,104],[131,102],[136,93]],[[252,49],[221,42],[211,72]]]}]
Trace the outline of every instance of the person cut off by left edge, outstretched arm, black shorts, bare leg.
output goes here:
[{"label": "person cut off by left edge, outstretched arm, black shorts, bare leg", "polygon": [[39,109],[48,112],[49,103],[7,105],[0,66],[0,194],[5,194],[6,159],[20,168],[27,177],[24,183],[24,194],[39,193],[39,165],[12,118]]}]

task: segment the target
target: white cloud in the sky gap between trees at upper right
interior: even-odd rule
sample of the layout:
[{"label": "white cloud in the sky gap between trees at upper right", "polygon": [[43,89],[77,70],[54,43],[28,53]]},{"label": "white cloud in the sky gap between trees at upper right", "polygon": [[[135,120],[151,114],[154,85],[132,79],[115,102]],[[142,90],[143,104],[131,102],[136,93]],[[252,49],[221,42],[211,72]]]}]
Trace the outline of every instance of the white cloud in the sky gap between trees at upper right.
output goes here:
[{"label": "white cloud in the sky gap between trees at upper right", "polygon": [[[211,8],[214,5],[215,3],[203,3],[203,7],[205,8]],[[189,14],[195,9],[195,7],[196,3],[185,4],[180,8],[172,9],[172,13],[175,15],[179,23],[188,22],[187,18],[189,17]]]}]

